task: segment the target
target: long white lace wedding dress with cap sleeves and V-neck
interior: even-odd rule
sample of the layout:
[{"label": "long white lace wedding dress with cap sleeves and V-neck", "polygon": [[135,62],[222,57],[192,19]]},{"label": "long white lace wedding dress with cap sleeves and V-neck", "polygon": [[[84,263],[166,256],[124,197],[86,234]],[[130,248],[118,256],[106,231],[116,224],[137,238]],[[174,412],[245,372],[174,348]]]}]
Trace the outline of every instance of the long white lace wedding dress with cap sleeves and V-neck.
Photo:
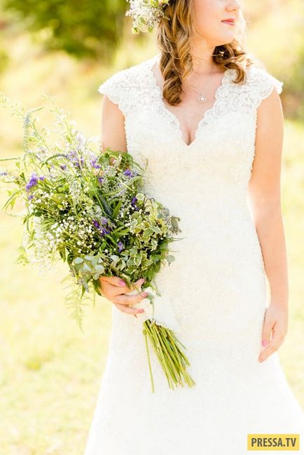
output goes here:
[{"label": "long white lace wedding dress with cap sleeves and V-neck", "polygon": [[116,72],[98,90],[123,111],[127,150],[139,163],[148,159],[146,193],[181,218],[175,261],[157,283],[174,308],[195,386],[170,390],[150,348],[152,393],[142,321],[113,305],[85,455],[245,455],[249,433],[299,434],[303,454],[304,412],[278,352],[258,362],[268,303],[247,205],[257,108],[283,83],[250,67],[246,83],[235,84],[227,69],[187,145],[152,71],[158,57]]}]

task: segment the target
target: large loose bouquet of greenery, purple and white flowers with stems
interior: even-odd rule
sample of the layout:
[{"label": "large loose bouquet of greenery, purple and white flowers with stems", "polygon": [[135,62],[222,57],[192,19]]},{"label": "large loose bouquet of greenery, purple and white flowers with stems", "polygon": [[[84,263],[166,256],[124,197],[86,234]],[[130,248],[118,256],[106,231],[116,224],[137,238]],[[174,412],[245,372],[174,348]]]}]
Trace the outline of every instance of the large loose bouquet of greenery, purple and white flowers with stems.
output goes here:
[{"label": "large loose bouquet of greenery, purple and white flowers with stems", "polygon": [[[101,153],[97,138],[79,133],[67,112],[53,98],[43,97],[52,102],[55,130],[39,129],[36,124],[34,112],[44,107],[24,111],[18,104],[9,106],[22,118],[24,140],[22,156],[1,158],[15,162],[15,168],[0,172],[0,181],[10,184],[4,209],[12,209],[18,198],[25,205],[20,214],[25,229],[17,262],[52,268],[61,260],[69,266],[64,280],[73,280],[74,290],[67,303],[82,330],[83,296],[90,291],[102,295],[102,275],[120,276],[131,294],[133,283],[145,278],[146,290],[158,293],[154,279],[161,266],[174,260],[169,245],[178,240],[174,236],[180,232],[179,218],[144,193],[146,167],[130,154],[109,147]],[[4,94],[0,100],[8,107]],[[145,308],[142,323],[152,391],[148,339],[170,388],[184,383],[193,386],[185,346],[172,330],[170,304],[160,306],[153,292],[144,300],[140,303]]]}]

